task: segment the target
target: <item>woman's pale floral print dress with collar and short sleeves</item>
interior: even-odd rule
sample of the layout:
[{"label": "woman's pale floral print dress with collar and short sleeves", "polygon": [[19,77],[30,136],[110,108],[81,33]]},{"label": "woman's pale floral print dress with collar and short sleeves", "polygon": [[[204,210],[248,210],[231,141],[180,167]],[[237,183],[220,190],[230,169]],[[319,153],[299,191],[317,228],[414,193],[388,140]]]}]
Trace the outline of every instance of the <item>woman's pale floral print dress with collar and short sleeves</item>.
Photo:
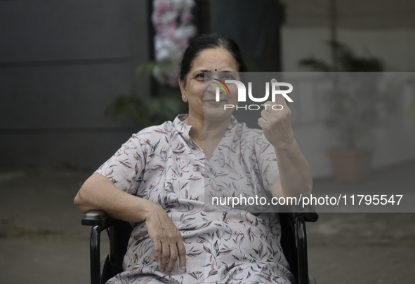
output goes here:
[{"label": "woman's pale floral print dress with collar and short sleeves", "polygon": [[[187,266],[159,270],[145,222],[134,229],[124,272],[107,283],[294,283],[279,244],[275,213],[206,210],[206,192],[268,191],[278,175],[261,130],[232,116],[209,161],[180,115],[133,135],[95,172],[121,190],[161,205],[183,236]],[[231,182],[230,182],[231,181]]]}]

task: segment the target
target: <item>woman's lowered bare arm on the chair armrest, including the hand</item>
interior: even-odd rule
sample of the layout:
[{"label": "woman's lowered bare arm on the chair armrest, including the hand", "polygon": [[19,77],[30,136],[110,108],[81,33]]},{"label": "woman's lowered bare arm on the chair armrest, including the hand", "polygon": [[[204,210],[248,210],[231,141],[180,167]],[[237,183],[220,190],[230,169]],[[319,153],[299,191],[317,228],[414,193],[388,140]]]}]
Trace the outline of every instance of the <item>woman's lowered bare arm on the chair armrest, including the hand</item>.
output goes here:
[{"label": "woman's lowered bare arm on the chair armrest, including the hand", "polygon": [[84,213],[103,210],[116,219],[145,222],[160,270],[171,273],[178,258],[180,269],[185,270],[186,250],[182,236],[162,206],[118,189],[111,180],[98,173],[84,182],[74,203]]}]

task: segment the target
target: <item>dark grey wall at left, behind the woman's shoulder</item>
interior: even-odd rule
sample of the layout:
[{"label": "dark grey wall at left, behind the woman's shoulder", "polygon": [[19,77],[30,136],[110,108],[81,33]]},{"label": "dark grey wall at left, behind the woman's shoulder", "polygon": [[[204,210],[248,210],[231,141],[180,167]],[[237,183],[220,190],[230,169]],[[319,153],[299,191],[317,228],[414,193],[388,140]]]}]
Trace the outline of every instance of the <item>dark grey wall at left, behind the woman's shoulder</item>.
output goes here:
[{"label": "dark grey wall at left, behind the woman's shoulder", "polygon": [[149,58],[146,2],[0,1],[1,167],[95,169],[140,130],[105,108]]}]

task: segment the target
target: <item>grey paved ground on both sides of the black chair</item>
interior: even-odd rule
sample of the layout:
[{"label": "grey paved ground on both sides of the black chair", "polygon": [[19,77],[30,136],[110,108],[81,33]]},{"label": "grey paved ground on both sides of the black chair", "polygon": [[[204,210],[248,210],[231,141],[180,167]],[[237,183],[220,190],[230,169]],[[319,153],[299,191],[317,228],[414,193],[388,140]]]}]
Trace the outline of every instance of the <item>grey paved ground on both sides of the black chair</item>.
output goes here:
[{"label": "grey paved ground on both sides of the black chair", "polygon": [[[415,161],[379,170],[365,187],[415,184]],[[89,173],[0,172],[0,283],[88,283],[89,228],[73,198]],[[315,181],[315,191],[355,185]],[[398,189],[398,188],[397,188]],[[317,283],[414,283],[414,214],[320,214],[308,224]],[[105,238],[104,238],[105,240]],[[103,241],[104,246],[106,241]]]}]

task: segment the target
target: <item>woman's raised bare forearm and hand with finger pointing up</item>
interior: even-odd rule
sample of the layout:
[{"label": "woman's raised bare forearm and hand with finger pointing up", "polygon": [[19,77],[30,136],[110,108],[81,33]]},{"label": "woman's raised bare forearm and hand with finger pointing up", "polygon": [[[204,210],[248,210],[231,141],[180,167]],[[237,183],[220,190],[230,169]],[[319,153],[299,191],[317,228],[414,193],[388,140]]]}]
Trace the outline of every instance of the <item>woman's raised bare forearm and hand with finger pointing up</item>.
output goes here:
[{"label": "woman's raised bare forearm and hand with finger pointing up", "polygon": [[[272,79],[271,83],[274,80]],[[281,105],[282,109],[272,109],[274,104]],[[263,129],[265,138],[272,144],[277,155],[279,175],[272,184],[272,195],[298,198],[301,194],[311,194],[310,166],[294,139],[291,110],[282,95],[277,95],[275,102],[265,102],[265,109],[261,111],[258,125]]]}]

